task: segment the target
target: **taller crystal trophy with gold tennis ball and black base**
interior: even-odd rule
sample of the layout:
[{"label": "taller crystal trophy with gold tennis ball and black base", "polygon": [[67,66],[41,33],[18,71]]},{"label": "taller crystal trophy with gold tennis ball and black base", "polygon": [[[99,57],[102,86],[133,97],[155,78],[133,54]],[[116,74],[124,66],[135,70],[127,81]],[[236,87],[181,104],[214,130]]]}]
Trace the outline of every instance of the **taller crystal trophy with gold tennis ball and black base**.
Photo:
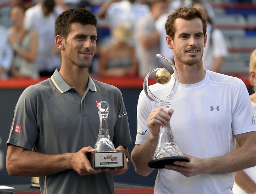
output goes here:
[{"label": "taller crystal trophy with gold tennis ball and black base", "polygon": [[[148,78],[153,72],[156,72],[155,78],[156,78],[156,81],[160,84],[167,84],[171,79],[171,74],[167,69],[156,68],[150,71],[145,77],[143,82],[143,89],[148,99],[156,105],[156,108],[162,108],[165,111],[167,111],[171,106],[171,103],[169,103],[169,101],[174,97],[178,89],[178,84],[179,84],[178,72],[175,65],[169,58],[160,54],[156,54],[156,57],[164,58],[171,64],[174,71],[173,88],[164,99],[160,99],[153,95],[153,93],[149,90],[149,87],[148,87]],[[187,157],[184,157],[183,153],[180,151],[179,147],[177,146],[172,134],[171,125],[168,122],[166,125],[160,127],[158,144],[156,146],[153,159],[148,162],[148,166],[151,168],[165,168],[164,167],[165,165],[173,164],[174,161],[189,162],[189,159]]]}]

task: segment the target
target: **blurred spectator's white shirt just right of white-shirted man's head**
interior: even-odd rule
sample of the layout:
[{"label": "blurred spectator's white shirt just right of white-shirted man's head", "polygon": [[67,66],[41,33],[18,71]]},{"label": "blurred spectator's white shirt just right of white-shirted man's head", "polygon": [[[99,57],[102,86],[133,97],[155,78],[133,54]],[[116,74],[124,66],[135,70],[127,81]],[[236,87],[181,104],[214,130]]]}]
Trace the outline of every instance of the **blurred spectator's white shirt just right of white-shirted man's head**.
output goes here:
[{"label": "blurred spectator's white shirt just right of white-shirted man's head", "polygon": [[[223,33],[217,28],[214,28],[212,33],[211,30],[212,25],[207,23],[207,41],[206,47],[204,48],[203,64],[204,68],[208,70],[211,70],[215,57],[225,57],[228,55],[228,49]],[[210,40],[212,40],[211,43]]]}]

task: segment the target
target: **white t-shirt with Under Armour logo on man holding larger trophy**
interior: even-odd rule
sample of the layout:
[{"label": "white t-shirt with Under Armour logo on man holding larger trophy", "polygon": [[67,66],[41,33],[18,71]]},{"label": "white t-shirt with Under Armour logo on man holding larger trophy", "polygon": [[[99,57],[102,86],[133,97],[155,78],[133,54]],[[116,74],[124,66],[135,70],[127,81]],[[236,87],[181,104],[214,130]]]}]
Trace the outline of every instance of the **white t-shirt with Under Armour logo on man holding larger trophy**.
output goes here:
[{"label": "white t-shirt with Under Armour logo on man holding larger trophy", "polygon": [[[164,99],[173,83],[172,76],[166,85],[152,85],[151,91]],[[235,77],[206,70],[201,82],[179,84],[170,103],[174,110],[170,124],[177,145],[182,152],[198,158],[226,155],[235,149],[234,135],[256,131],[249,93],[242,80]],[[145,143],[150,134],[147,118],[152,109],[155,104],[142,91],[137,106],[135,144]],[[234,175],[198,174],[186,178],[178,172],[159,169],[155,194],[229,194]]]}]

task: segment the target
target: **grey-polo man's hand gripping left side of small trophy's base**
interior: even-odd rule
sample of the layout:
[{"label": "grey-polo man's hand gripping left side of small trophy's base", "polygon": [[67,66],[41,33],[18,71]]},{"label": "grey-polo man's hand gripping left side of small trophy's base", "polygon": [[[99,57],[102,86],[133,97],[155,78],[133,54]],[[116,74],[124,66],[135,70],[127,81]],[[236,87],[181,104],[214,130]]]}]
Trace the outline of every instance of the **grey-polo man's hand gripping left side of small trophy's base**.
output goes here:
[{"label": "grey-polo man's hand gripping left side of small trophy's base", "polygon": [[91,146],[83,147],[78,152],[74,153],[70,160],[70,166],[79,174],[79,175],[88,175],[88,174],[97,174],[102,172],[101,169],[94,169],[91,167],[91,163],[87,158],[87,153],[95,152],[96,150]]}]

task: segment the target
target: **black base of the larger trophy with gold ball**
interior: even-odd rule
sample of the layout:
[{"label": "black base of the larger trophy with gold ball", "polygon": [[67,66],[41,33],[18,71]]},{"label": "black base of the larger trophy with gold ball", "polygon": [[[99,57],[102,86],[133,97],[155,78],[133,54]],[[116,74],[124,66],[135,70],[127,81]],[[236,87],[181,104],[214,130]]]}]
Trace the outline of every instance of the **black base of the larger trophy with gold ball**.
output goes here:
[{"label": "black base of the larger trophy with gold ball", "polygon": [[159,159],[150,160],[148,162],[148,167],[150,168],[165,168],[165,165],[173,164],[175,161],[189,162],[189,159],[184,156],[171,156]]}]

